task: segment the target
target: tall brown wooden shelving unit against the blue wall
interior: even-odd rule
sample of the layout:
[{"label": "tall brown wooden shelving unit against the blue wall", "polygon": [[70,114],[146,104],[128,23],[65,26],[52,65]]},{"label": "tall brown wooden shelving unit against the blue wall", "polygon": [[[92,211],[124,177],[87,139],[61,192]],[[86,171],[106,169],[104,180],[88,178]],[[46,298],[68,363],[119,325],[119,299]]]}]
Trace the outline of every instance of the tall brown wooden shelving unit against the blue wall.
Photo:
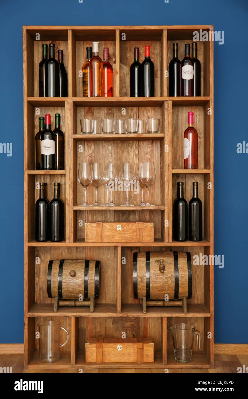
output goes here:
[{"label": "tall brown wooden shelving unit against the blue wall", "polygon": [[[197,43],[201,61],[201,97],[168,97],[168,70],[172,43],[178,42],[179,58],[184,44],[193,41],[195,30],[212,31],[213,26],[24,26],[23,27],[23,90],[24,90],[24,261],[25,261],[25,356],[24,367],[59,368],[210,368],[214,357],[213,266],[193,265],[192,298],[188,313],[182,308],[148,308],[142,312],[140,300],[133,299],[131,250],[189,251],[193,255],[213,255],[213,42]],[[36,33],[40,40],[36,40]],[[126,40],[122,40],[123,33]],[[114,70],[114,97],[82,97],[82,79],[78,71],[85,61],[86,46],[100,41],[100,52],[109,47]],[[68,73],[66,98],[38,96],[38,64],[41,45],[52,41],[64,51]],[[145,44],[151,47],[155,64],[155,97],[129,97],[129,67],[133,47],[144,57]],[[37,109],[38,112],[37,112]],[[80,132],[82,117],[122,119],[137,116],[159,117],[159,134],[96,134]],[[187,112],[194,112],[198,132],[198,170],[183,169],[183,133]],[[35,170],[35,134],[39,115],[61,114],[65,138],[65,170]],[[79,151],[80,146],[80,151]],[[141,207],[139,195],[131,193],[135,206],[123,209],[124,193],[115,193],[119,206],[84,207],[82,187],[77,182],[78,162],[152,161],[156,181],[150,189],[154,207]],[[185,197],[191,198],[192,182],[199,182],[199,198],[203,202],[203,241],[174,242],[172,239],[172,205],[176,198],[176,182],[184,182]],[[53,182],[61,183],[65,207],[64,241],[37,243],[35,232],[35,201],[37,183],[47,182],[47,196],[52,197]],[[209,189],[209,183],[211,188]],[[88,188],[88,203],[94,203],[93,188]],[[105,190],[99,189],[99,201],[105,203]],[[82,223],[79,223],[81,221]],[[153,221],[152,243],[85,243],[85,222]],[[165,223],[166,222],[166,223]],[[80,227],[83,225],[83,227]],[[101,293],[94,313],[85,307],[62,307],[53,312],[53,299],[47,297],[47,266],[50,259],[99,259],[101,261]],[[123,261],[124,260],[124,261]],[[68,343],[61,348],[61,360],[41,363],[35,339],[37,323],[56,319],[69,332]],[[175,322],[194,324],[201,332],[201,348],[193,346],[190,363],[177,363],[173,355],[169,326]],[[154,339],[154,363],[86,363],[86,338],[143,337]],[[211,332],[211,339],[209,339]]]}]

